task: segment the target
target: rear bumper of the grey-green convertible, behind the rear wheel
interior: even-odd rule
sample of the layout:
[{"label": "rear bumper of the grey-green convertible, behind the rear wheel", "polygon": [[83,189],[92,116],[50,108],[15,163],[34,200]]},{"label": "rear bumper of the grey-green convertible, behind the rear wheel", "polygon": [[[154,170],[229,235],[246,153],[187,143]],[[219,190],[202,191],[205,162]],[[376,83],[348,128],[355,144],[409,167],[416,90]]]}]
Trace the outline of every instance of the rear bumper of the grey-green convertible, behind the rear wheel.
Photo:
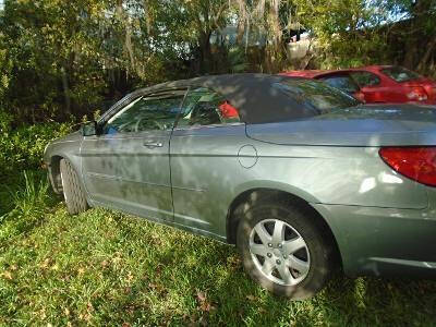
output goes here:
[{"label": "rear bumper of the grey-green convertible, behind the rear wheel", "polygon": [[314,204],[349,276],[436,278],[436,210]]}]

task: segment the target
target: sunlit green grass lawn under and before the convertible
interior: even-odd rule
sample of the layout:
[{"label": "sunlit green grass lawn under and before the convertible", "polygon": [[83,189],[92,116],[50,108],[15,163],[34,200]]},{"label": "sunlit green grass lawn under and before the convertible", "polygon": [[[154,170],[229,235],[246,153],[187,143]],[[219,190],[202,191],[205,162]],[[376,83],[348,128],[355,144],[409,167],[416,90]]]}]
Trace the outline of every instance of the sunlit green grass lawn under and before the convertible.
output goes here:
[{"label": "sunlit green grass lawn under and before the convertible", "polygon": [[252,282],[231,246],[100,208],[72,217],[44,183],[11,184],[0,325],[436,324],[434,281],[338,276],[314,299],[290,302]]}]

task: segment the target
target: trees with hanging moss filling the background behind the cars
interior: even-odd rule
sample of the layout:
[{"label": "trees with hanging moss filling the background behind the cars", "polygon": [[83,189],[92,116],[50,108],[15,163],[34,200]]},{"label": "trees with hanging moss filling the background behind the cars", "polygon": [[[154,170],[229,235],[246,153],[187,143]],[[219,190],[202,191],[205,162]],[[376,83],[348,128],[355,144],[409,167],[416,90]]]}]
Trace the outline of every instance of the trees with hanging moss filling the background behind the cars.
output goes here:
[{"label": "trees with hanging moss filling the background behind the cars", "polygon": [[[435,3],[4,0],[0,106],[16,123],[78,120],[142,85],[279,72],[294,64],[288,43],[301,28],[316,39],[314,69],[399,63],[436,73]],[[210,44],[229,25],[235,43]]]}]

